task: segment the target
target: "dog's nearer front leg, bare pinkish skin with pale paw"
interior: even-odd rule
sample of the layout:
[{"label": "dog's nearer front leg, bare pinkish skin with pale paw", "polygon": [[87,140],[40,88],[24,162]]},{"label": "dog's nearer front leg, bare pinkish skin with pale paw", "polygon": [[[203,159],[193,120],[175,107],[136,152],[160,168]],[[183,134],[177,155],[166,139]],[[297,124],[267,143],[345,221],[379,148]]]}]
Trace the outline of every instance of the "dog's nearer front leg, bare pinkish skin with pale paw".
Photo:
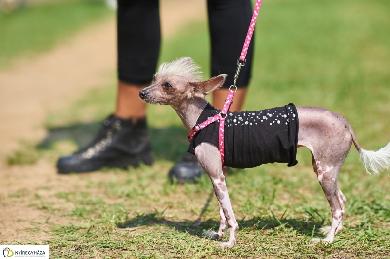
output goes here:
[{"label": "dog's nearer front leg, bare pinkish skin with pale paw", "polygon": [[[226,222],[229,225],[229,241],[219,244],[218,248],[232,248],[237,243],[235,235],[239,227],[237,221],[235,220],[232,205],[230,203],[225,175],[222,171],[219,148],[212,143],[203,142],[195,148],[195,155],[199,160],[200,165],[209,175],[211,183],[213,184],[215,195],[220,204],[221,225],[217,235],[220,235],[221,237],[224,234]],[[223,230],[221,230],[221,228],[223,228]]]}]

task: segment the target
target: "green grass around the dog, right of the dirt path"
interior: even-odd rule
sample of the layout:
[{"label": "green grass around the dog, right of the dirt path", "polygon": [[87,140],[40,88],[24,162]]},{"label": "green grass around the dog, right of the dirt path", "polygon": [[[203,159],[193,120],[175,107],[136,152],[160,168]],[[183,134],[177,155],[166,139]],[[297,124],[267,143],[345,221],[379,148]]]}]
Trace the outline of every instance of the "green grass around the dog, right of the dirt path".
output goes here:
[{"label": "green grass around the dog, right of the dirt path", "polygon": [[[296,105],[326,107],[345,116],[359,143],[377,149],[390,140],[390,2],[279,0],[262,5],[248,110]],[[206,24],[196,23],[163,42],[161,61],[191,56],[208,71]],[[207,77],[207,73],[205,73]],[[50,114],[43,159],[88,142],[114,107],[114,85],[96,89],[69,109]],[[170,184],[166,173],[187,148],[186,131],[170,107],[149,106],[156,162],[129,170],[66,176],[66,190],[13,193],[52,220],[51,258],[390,258],[390,180],[366,175],[354,148],[341,170],[347,197],[344,230],[330,245],[322,237],[331,214],[312,171],[308,149],[299,164],[232,170],[227,178],[238,246],[228,251],[201,236],[219,226],[210,181]],[[44,224],[49,225],[45,230]],[[33,242],[33,241],[30,241]],[[26,241],[28,243],[28,241]]]}]

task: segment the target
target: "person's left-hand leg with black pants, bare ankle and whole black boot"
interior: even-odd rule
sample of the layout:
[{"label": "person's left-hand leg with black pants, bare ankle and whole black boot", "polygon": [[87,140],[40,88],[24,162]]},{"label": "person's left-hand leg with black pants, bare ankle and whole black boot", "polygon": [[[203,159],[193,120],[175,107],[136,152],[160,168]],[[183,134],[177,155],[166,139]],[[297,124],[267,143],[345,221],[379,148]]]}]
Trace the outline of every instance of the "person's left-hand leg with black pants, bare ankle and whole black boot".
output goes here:
[{"label": "person's left-hand leg with black pants, bare ankle and whole black boot", "polygon": [[152,163],[145,104],[138,92],[156,70],[160,48],[158,0],[118,0],[118,95],[114,115],[87,147],[57,162],[59,173]]}]

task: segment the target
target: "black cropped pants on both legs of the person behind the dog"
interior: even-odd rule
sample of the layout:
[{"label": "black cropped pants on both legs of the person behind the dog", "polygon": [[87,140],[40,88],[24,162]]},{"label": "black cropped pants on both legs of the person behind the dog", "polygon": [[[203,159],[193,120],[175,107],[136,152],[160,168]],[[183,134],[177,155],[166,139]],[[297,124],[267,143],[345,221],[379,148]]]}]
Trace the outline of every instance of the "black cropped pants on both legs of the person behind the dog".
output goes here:
[{"label": "black cropped pants on both legs of the person behind the dog", "polygon": [[[119,80],[149,84],[155,73],[161,32],[158,0],[118,0]],[[250,0],[207,0],[211,38],[211,75],[228,74],[224,87],[233,84],[252,18]],[[254,38],[252,38],[253,41]],[[247,86],[251,77],[253,45],[246,56],[237,86]],[[167,60],[170,61],[170,60]]]}]

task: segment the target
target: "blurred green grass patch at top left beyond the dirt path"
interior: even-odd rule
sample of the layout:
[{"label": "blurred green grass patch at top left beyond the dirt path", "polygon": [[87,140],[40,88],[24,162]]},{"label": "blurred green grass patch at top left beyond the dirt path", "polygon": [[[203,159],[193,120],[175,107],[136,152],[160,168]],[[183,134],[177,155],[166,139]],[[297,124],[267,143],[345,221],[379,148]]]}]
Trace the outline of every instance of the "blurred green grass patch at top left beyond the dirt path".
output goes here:
[{"label": "blurred green grass patch at top left beyond the dirt path", "polygon": [[0,12],[0,67],[20,56],[47,51],[80,28],[111,15],[101,0],[47,1]]}]

